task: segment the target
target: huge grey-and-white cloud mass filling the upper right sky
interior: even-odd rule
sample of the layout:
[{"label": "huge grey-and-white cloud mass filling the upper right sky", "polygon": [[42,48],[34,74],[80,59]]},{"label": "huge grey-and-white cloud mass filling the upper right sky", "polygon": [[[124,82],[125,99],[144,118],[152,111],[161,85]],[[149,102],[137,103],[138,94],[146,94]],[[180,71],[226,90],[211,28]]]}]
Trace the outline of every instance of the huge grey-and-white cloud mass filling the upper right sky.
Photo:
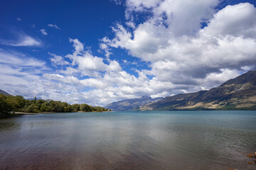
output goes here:
[{"label": "huge grey-and-white cloud mass filling the upper right sky", "polygon": [[[186,85],[186,91],[193,91],[189,84],[209,89],[237,76],[242,68],[255,68],[253,5],[226,6],[215,12],[215,0],[127,3],[131,13],[147,10],[152,16],[132,32],[117,24],[112,29],[115,37],[102,38],[102,43],[150,62],[151,69],[142,72],[157,81]],[[201,28],[202,22],[208,26]],[[223,79],[210,79],[213,75]]]}]

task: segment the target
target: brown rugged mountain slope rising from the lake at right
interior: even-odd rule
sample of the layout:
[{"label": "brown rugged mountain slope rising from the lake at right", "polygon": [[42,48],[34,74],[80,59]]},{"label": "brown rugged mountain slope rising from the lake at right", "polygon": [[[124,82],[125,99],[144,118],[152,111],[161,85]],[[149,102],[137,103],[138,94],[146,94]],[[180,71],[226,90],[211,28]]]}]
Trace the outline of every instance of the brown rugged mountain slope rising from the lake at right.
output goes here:
[{"label": "brown rugged mountain slope rising from the lake at right", "polygon": [[256,71],[208,91],[178,94],[139,107],[140,111],[256,110]]}]

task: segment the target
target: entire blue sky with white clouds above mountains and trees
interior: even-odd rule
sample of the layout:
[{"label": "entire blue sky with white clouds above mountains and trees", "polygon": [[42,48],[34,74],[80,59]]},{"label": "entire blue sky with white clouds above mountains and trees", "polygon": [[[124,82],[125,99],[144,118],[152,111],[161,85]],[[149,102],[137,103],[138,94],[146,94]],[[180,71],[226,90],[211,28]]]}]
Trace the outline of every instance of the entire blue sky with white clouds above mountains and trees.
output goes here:
[{"label": "entire blue sky with white clouds above mountains and trees", "polygon": [[255,0],[2,0],[0,89],[93,106],[207,90],[255,69],[255,7]]}]

